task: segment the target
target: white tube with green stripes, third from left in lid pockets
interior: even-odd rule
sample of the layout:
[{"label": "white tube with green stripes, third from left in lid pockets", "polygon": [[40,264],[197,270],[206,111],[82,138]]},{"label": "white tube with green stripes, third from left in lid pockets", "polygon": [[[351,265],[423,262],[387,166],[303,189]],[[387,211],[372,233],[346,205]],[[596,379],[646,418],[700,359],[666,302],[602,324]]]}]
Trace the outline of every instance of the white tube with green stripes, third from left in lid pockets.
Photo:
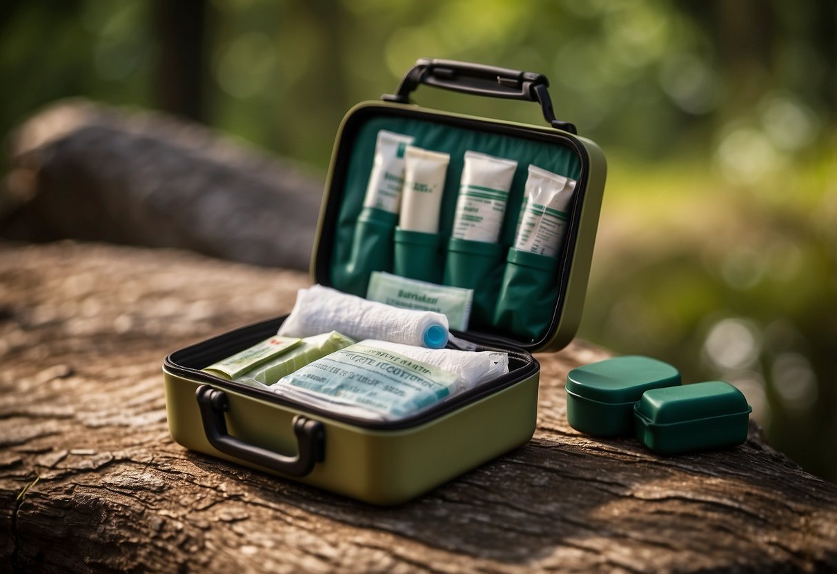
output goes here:
[{"label": "white tube with green stripes, third from left in lid pockets", "polygon": [[465,151],[454,238],[495,243],[500,237],[517,161]]}]

